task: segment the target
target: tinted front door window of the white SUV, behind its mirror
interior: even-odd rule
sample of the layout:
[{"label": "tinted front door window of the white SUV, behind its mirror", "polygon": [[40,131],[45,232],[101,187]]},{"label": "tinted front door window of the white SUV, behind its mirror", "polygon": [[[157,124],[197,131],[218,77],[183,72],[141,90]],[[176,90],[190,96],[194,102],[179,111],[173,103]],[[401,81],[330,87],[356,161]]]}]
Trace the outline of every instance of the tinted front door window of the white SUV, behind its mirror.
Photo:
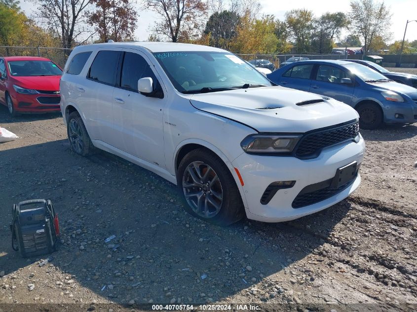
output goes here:
[{"label": "tinted front door window of the white SUV, behind its mirror", "polygon": [[139,54],[125,52],[121,69],[120,87],[138,92],[138,80],[151,77],[153,88],[156,89],[157,79],[148,62]]}]

